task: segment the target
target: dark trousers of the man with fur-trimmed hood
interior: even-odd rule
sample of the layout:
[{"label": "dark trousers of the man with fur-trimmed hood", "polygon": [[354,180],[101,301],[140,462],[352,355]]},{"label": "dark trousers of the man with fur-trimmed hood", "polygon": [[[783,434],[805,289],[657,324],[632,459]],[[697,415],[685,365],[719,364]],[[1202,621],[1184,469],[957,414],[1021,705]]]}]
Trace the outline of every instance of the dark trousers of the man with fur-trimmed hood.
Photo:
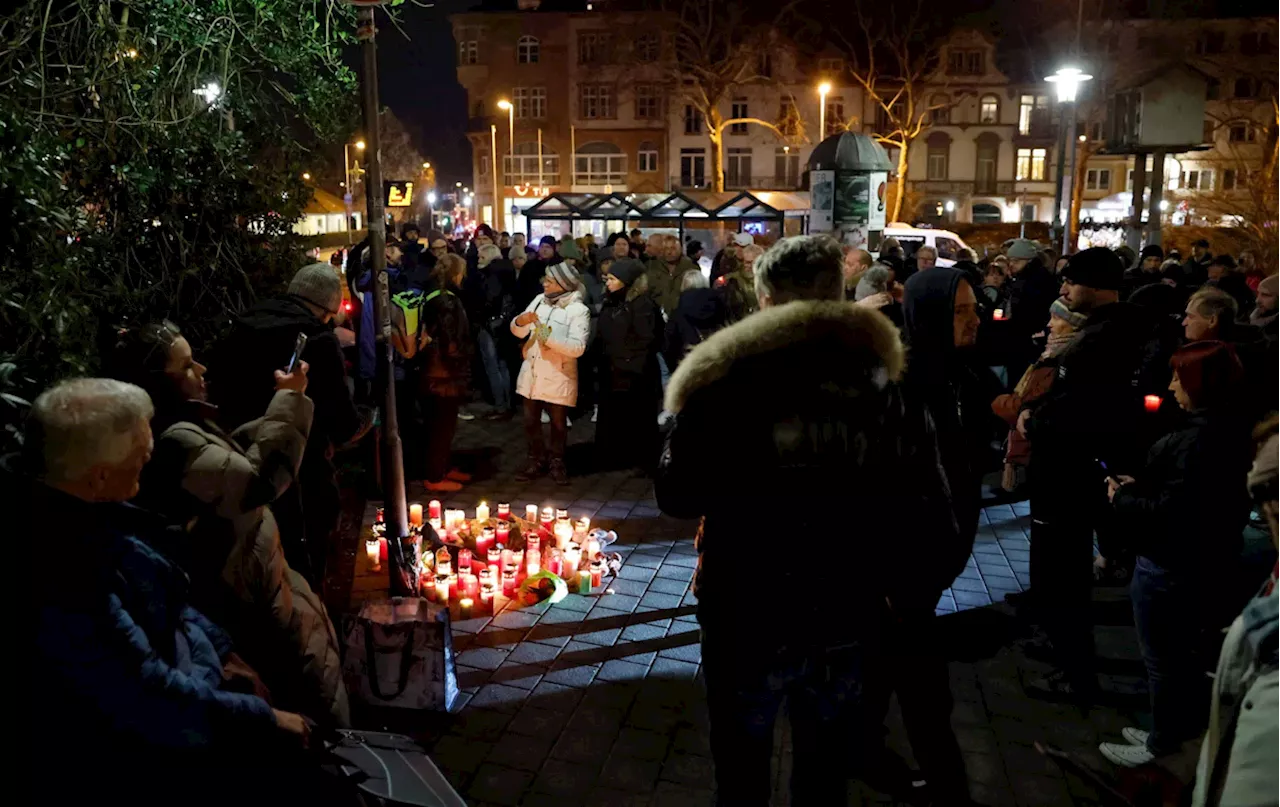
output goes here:
[{"label": "dark trousers of the man with fur-trimmed hood", "polygon": [[791,803],[844,804],[863,712],[864,651],[762,647],[741,632],[703,623],[703,676],[710,716],[716,803],[765,807],[773,728],[783,699],[791,719]]}]

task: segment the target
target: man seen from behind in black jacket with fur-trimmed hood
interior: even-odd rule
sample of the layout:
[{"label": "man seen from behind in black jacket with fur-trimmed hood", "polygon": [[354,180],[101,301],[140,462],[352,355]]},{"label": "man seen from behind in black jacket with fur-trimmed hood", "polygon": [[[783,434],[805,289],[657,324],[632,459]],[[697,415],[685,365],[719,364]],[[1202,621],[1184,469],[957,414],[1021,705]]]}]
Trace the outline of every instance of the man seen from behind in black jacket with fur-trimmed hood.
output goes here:
[{"label": "man seen from behind in black jacket with fur-trimmed hood", "polygon": [[[768,803],[783,698],[794,803],[844,803],[861,689],[883,674],[881,626],[892,608],[932,607],[960,570],[928,416],[896,384],[897,329],[842,302],[841,261],[828,237],[780,241],[755,265],[762,310],[695,347],[667,388],[657,497],[701,516],[718,804]],[[744,587],[782,599],[744,620]]]}]

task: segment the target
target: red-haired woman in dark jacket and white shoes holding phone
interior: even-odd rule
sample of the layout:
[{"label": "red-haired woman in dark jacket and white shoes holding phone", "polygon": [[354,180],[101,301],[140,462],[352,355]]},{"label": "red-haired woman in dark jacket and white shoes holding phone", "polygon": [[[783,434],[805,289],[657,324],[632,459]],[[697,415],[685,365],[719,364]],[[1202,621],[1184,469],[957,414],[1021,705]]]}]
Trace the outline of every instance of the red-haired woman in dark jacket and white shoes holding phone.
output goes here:
[{"label": "red-haired woman in dark jacket and white shoes holding phone", "polygon": [[1151,448],[1142,471],[1107,477],[1119,525],[1135,543],[1129,593],[1151,694],[1151,730],[1125,729],[1126,742],[1098,748],[1125,767],[1172,753],[1204,730],[1204,671],[1242,605],[1231,583],[1253,457],[1249,421],[1236,406],[1244,370],[1225,342],[1193,342],[1171,364],[1169,389],[1185,423]]}]

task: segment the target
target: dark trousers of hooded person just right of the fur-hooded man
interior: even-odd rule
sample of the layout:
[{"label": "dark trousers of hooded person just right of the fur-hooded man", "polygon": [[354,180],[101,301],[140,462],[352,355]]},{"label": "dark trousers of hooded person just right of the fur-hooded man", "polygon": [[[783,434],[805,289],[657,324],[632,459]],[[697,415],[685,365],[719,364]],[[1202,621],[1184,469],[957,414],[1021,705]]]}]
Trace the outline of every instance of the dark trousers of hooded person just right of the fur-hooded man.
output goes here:
[{"label": "dark trousers of hooded person just right of the fur-hooded man", "polygon": [[890,696],[897,692],[902,728],[936,799],[968,797],[964,756],[951,729],[951,678],[937,652],[938,617],[906,614],[887,634],[884,665],[869,685],[868,747],[881,744]]}]

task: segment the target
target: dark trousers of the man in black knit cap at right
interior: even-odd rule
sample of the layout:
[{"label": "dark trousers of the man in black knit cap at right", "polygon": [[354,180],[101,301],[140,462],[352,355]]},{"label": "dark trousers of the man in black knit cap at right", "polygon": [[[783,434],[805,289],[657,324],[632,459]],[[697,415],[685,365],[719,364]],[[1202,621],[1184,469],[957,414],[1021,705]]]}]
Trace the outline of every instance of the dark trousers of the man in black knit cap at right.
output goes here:
[{"label": "dark trousers of the man in black knit cap at right", "polygon": [[1106,505],[1087,462],[1032,452],[1030,578],[1041,626],[1073,678],[1093,667],[1093,529]]}]

